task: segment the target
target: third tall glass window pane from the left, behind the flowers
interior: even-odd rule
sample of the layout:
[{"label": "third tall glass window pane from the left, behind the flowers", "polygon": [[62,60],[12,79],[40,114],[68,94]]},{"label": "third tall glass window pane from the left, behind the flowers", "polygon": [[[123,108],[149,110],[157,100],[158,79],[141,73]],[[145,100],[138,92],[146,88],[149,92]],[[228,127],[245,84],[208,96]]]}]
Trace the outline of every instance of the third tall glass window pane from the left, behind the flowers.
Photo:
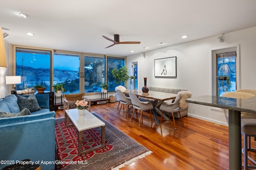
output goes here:
[{"label": "third tall glass window pane from the left, behind the flowers", "polygon": [[84,56],[84,91],[101,92],[101,82],[105,82],[105,58]]}]

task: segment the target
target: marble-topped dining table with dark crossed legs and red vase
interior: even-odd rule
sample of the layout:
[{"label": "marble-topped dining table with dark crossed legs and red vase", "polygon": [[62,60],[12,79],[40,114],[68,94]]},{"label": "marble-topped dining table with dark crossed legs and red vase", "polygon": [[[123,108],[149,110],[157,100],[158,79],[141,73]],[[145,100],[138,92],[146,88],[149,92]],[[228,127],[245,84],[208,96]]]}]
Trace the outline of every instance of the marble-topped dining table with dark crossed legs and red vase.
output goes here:
[{"label": "marble-topped dining table with dark crossed legs and red vase", "polygon": [[[148,91],[147,93],[144,93],[142,92],[142,90],[132,90],[132,89],[125,90],[123,93],[125,95],[129,95],[129,92],[133,92],[137,97],[140,97],[140,98],[154,100],[153,115],[154,115],[156,125],[160,124],[157,114],[161,115],[161,111],[157,108],[157,106],[160,106],[166,100],[173,100],[177,96],[177,94],[173,94],[173,93],[156,92],[156,91]],[[163,115],[163,117],[167,119],[166,116]]]}]

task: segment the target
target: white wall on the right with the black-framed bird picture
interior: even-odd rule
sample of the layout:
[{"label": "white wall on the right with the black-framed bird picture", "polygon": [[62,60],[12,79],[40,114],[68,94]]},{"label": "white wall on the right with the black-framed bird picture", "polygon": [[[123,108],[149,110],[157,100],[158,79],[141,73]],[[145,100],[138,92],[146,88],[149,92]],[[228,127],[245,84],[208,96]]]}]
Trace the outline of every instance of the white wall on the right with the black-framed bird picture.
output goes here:
[{"label": "white wall on the right with the black-framed bird picture", "polygon": [[[256,27],[243,29],[223,35],[220,43],[218,36],[191,41],[127,57],[128,69],[132,62],[138,62],[138,88],[144,86],[161,86],[184,88],[192,92],[192,97],[212,95],[212,50],[227,47],[240,47],[240,88],[256,90]],[[177,57],[177,78],[155,78],[154,59]],[[130,72],[130,70],[129,70]],[[238,82],[239,83],[239,82]],[[189,104],[188,115],[210,122],[227,125],[223,111],[208,106]]]}]

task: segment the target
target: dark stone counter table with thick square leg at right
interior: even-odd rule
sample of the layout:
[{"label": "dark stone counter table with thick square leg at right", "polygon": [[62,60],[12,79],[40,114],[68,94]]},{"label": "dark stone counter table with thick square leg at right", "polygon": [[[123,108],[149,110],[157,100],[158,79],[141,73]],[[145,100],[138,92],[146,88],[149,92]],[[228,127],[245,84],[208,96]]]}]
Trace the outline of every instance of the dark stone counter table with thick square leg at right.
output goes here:
[{"label": "dark stone counter table with thick square leg at right", "polygon": [[198,96],[188,98],[186,102],[228,109],[229,169],[241,170],[241,111],[256,114],[256,96],[248,99]]}]

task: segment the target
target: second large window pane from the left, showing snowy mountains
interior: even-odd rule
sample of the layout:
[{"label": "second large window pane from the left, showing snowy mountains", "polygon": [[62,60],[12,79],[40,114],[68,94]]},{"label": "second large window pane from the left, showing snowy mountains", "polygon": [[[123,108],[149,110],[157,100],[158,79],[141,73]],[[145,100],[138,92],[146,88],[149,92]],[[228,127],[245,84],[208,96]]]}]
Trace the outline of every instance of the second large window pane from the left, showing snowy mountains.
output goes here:
[{"label": "second large window pane from the left, showing snowy mountains", "polygon": [[80,93],[80,55],[54,53],[53,84],[65,83],[66,94]]}]

